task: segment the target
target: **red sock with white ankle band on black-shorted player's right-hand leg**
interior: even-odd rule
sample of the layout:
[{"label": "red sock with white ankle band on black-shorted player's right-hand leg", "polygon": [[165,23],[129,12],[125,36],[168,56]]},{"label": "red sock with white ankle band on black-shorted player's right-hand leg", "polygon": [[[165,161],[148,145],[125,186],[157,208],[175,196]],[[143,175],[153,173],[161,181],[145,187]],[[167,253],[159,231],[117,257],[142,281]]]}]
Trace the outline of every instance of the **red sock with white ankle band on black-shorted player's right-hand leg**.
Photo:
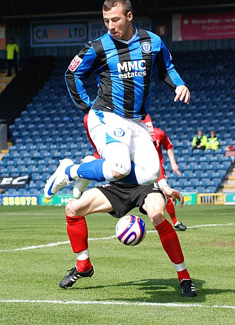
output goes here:
[{"label": "red sock with white ankle band on black-shorted player's right-hand leg", "polygon": [[[160,224],[156,225],[155,228],[160,237],[161,244],[172,263],[174,263],[175,267],[178,267],[178,269],[181,269],[182,267],[184,268],[184,255],[180,246],[179,238],[171,223],[165,219]],[[183,279],[190,279],[186,268],[177,271],[177,274],[180,281]]]}]

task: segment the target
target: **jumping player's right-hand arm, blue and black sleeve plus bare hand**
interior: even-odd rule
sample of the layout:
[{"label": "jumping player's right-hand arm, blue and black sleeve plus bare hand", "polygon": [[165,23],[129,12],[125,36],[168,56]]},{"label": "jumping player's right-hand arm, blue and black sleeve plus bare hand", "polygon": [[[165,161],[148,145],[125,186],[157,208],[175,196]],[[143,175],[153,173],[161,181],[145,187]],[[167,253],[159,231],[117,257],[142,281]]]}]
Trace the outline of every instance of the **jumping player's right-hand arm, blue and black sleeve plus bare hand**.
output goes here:
[{"label": "jumping player's right-hand arm, blue and black sleeve plus bare hand", "polygon": [[175,89],[175,102],[184,100],[186,104],[189,104],[190,92],[178,72],[174,69],[171,59],[171,53],[161,40],[160,51],[154,60],[154,73],[160,80]]}]

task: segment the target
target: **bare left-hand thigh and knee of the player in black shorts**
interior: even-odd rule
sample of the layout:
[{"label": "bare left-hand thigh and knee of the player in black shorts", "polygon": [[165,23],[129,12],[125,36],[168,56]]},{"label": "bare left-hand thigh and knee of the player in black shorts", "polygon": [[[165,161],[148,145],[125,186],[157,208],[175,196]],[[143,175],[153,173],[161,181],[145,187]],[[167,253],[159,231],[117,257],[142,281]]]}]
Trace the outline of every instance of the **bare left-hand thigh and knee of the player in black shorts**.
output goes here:
[{"label": "bare left-hand thigh and knee of the player in black shorts", "polygon": [[72,200],[66,205],[66,214],[85,216],[95,212],[111,212],[113,207],[106,196],[97,188],[85,191],[79,200]]}]

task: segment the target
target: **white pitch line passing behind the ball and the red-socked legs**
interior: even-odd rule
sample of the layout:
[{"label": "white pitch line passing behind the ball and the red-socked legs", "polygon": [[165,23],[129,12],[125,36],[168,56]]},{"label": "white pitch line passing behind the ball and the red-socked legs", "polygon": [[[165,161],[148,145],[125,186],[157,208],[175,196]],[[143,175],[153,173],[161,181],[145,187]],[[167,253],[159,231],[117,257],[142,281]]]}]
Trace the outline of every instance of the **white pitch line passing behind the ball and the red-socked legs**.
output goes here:
[{"label": "white pitch line passing behind the ball and the red-socked legs", "polygon": [[[214,223],[214,224],[196,224],[188,226],[187,228],[200,228],[200,227],[213,227],[213,226],[223,226],[223,225],[235,225],[235,223]],[[147,234],[149,233],[156,233],[155,230],[148,230]],[[97,237],[97,238],[88,238],[88,240],[108,240],[116,238],[116,236],[109,236],[109,237]],[[12,251],[19,251],[19,250],[29,250],[29,249],[37,249],[37,248],[44,248],[44,247],[53,247],[58,245],[64,245],[69,244],[70,241],[64,241],[64,242],[56,242],[56,243],[49,243],[49,244],[42,244],[42,245],[32,245],[32,246],[26,246],[21,248],[14,248],[14,249],[2,249],[0,252],[12,252]]]}]

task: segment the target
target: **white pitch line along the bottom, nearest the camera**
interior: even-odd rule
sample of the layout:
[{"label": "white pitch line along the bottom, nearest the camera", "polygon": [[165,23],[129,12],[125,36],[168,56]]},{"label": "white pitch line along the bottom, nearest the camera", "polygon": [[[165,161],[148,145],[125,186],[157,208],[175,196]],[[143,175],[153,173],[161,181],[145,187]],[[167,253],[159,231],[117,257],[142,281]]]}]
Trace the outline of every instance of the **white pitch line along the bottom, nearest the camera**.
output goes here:
[{"label": "white pitch line along the bottom, nearest the camera", "polygon": [[23,299],[11,299],[0,300],[0,303],[31,303],[31,304],[59,304],[59,305],[121,305],[121,306],[163,306],[163,307],[200,307],[200,308],[226,308],[235,309],[235,306],[226,305],[203,305],[203,304],[177,304],[177,303],[148,303],[148,302],[136,302],[129,303],[124,301],[61,301],[61,300],[23,300]]}]

